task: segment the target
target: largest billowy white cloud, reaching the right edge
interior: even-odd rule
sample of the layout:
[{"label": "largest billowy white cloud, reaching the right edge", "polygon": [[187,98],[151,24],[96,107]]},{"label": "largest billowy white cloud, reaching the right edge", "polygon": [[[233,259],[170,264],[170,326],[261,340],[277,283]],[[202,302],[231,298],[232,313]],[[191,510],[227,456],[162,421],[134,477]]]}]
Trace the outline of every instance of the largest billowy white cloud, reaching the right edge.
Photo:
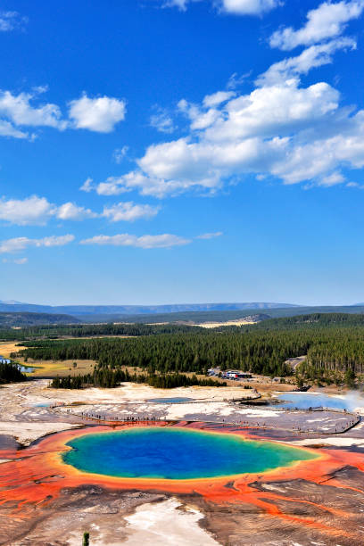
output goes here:
[{"label": "largest billowy white cloud, reaching the right edge", "polygon": [[[151,145],[139,170],[109,178],[99,194],[131,189],[163,197],[190,189],[216,191],[224,180],[273,175],[285,183],[317,179],[343,163],[364,161],[364,112],[339,107],[326,82],[301,87],[298,79],[258,87],[233,98],[216,120],[186,138]],[[323,152],[326,150],[326,153]],[[324,182],[325,183],[325,182]]]}]

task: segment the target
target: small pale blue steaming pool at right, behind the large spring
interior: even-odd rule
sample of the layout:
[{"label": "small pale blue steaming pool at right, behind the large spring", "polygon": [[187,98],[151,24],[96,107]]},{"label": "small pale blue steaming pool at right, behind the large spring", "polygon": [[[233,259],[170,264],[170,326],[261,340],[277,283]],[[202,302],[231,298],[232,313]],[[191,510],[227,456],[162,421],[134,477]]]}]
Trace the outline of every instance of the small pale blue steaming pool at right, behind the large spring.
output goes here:
[{"label": "small pale blue steaming pool at right, behind the large spring", "polygon": [[283,393],[279,394],[277,398],[282,401],[276,406],[277,408],[308,409],[323,406],[324,408],[333,409],[353,409],[352,398],[335,398],[335,396],[328,396],[323,393]]}]

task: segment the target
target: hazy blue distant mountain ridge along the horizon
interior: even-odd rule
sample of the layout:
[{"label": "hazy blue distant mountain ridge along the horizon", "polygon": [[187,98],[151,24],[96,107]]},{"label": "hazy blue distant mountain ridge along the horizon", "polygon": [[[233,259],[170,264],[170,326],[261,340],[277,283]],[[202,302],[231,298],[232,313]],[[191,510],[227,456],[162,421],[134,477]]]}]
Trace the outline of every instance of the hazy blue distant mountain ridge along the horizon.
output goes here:
[{"label": "hazy blue distant mountain ridge along the horizon", "polygon": [[245,303],[176,303],[170,305],[37,305],[34,303],[4,302],[0,300],[3,312],[62,313],[70,315],[153,315],[154,313],[176,313],[186,311],[223,310],[267,310],[297,307],[291,303],[245,302]]}]

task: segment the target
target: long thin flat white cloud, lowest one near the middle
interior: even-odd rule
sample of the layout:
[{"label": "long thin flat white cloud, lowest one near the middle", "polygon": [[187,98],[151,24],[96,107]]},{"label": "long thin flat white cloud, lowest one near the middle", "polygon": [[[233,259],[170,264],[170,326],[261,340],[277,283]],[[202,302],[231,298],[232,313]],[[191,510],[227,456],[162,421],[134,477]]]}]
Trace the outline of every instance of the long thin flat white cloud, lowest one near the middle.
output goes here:
[{"label": "long thin flat white cloud, lowest one near the middle", "polygon": [[[84,239],[81,244],[99,244],[112,246],[135,246],[136,248],[171,248],[191,243],[191,240],[170,234],[157,236],[135,236],[123,233],[115,236],[95,236]],[[0,247],[1,248],[1,247]]]}]

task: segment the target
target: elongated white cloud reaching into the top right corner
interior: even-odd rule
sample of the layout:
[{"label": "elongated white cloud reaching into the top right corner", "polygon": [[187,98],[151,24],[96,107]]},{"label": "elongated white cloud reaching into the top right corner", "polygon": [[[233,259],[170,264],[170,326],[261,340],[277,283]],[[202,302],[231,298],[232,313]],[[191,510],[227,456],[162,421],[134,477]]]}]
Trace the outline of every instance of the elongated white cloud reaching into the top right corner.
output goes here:
[{"label": "elongated white cloud reaching into the top right corner", "polygon": [[364,0],[324,2],[307,13],[307,22],[302,29],[286,27],[277,30],[270,37],[269,45],[289,51],[297,45],[317,44],[327,38],[338,37],[343,33],[345,23],[360,17],[363,9]]}]

